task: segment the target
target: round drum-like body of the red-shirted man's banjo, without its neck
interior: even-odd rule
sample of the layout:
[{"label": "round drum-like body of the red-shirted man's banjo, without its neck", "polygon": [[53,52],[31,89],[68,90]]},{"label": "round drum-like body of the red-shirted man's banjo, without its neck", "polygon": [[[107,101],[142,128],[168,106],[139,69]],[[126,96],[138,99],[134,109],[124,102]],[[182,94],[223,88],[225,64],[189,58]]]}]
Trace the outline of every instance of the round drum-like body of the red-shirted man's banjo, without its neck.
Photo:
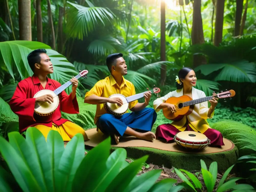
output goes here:
[{"label": "round drum-like body of the red-shirted man's banjo, without its neck", "polygon": [[59,97],[51,90],[44,89],[41,91],[38,91],[35,95],[34,98],[41,97],[42,95],[50,94],[53,97],[53,103],[48,103],[48,102],[38,102],[37,106],[35,106],[35,113],[40,115],[40,116],[47,116],[53,113],[58,105],[59,105]]}]

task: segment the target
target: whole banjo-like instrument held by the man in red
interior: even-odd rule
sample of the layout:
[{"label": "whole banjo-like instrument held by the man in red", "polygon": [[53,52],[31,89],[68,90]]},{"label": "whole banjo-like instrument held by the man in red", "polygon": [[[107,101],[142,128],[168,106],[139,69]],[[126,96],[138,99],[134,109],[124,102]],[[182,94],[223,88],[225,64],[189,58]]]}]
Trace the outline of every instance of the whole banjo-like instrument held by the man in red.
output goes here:
[{"label": "whole banjo-like instrument held by the man in red", "polygon": [[[88,70],[79,70],[79,74],[75,77],[76,79],[79,79],[80,77],[82,78],[87,78],[86,74],[88,73]],[[58,95],[67,89],[70,85],[72,84],[71,81],[66,82],[59,88],[55,89],[54,91],[48,90],[48,89],[43,89],[38,91],[35,95],[34,98],[41,97],[42,95],[47,95],[50,94],[53,97],[53,103],[48,103],[48,102],[37,102],[35,104],[35,113],[40,115],[40,116],[47,116],[52,114],[58,107],[59,105],[59,97]]]}]

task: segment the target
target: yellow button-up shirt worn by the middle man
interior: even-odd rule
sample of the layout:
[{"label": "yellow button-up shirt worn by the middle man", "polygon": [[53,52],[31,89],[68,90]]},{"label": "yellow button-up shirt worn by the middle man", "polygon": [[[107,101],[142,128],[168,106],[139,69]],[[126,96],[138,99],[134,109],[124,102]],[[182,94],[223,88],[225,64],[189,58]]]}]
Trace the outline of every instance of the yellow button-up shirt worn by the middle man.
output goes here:
[{"label": "yellow button-up shirt worn by the middle man", "polygon": [[[134,85],[124,79],[124,77],[122,77],[122,83],[121,86],[119,87],[119,85],[116,83],[114,77],[112,75],[106,77],[105,79],[102,79],[100,81],[98,81],[94,87],[88,91],[85,94],[85,98],[90,96],[90,95],[97,95],[99,97],[106,97],[108,98],[109,96],[113,95],[113,94],[122,94],[125,97],[129,97],[131,95],[135,95],[135,88]],[[132,101],[129,103],[129,109],[132,109],[136,104],[138,103],[138,100]],[[126,111],[127,113],[128,111]],[[104,109],[104,104],[97,104],[97,109],[96,109],[96,113],[95,113],[95,117],[94,117],[94,123],[96,125],[99,117],[103,114],[107,113],[106,110]]]}]

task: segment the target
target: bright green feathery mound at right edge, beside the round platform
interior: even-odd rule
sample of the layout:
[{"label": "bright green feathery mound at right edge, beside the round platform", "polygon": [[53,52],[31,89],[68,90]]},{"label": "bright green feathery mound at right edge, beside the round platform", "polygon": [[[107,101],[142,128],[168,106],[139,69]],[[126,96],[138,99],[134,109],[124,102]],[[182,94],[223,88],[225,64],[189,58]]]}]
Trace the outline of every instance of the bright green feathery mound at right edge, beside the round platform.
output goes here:
[{"label": "bright green feathery mound at right edge, beside the round platform", "polygon": [[239,150],[239,156],[248,155],[256,151],[256,131],[236,121],[221,121],[212,125],[220,131],[223,137],[231,140]]}]

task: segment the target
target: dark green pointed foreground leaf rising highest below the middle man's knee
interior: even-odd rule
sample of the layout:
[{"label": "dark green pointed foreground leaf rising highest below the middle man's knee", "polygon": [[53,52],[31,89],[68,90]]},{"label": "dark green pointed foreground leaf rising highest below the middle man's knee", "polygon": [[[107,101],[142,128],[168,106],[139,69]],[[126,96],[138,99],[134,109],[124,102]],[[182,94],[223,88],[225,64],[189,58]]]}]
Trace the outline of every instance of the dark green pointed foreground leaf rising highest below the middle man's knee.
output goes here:
[{"label": "dark green pointed foreground leaf rising highest below the middle man's knee", "polygon": [[[82,191],[83,189],[88,190],[87,187],[92,191],[92,183],[94,184],[94,187],[97,186],[97,183],[94,183],[94,181],[101,177],[101,175],[105,172],[107,168],[106,161],[109,154],[110,137],[90,150],[83,159],[76,172],[76,175],[74,176],[72,186],[73,191]],[[101,188],[106,188],[106,186],[101,186]]]}]

